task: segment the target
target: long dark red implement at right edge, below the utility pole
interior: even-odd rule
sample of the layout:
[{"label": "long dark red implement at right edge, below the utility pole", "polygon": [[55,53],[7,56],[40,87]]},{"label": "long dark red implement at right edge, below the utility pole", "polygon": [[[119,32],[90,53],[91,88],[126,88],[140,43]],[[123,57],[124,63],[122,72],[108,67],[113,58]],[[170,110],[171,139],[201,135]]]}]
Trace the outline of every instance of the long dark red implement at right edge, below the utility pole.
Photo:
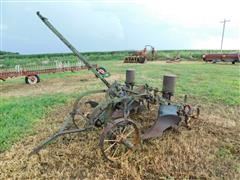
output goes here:
[{"label": "long dark red implement at right edge, below the utility pole", "polygon": [[231,62],[235,64],[236,62],[240,62],[240,53],[233,54],[204,54],[202,56],[203,61],[205,62]]}]

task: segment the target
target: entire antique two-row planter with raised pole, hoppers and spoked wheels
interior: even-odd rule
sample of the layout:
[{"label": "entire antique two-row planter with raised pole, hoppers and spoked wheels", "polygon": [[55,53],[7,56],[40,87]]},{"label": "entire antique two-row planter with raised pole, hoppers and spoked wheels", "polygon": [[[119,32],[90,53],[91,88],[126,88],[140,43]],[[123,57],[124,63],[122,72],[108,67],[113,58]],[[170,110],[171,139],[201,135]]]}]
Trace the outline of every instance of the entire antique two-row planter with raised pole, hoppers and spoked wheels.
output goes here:
[{"label": "entire antique two-row planter with raised pole, hoppers and spoked wheels", "polygon": [[[175,75],[163,77],[162,90],[147,84],[135,83],[135,70],[126,71],[126,81],[110,84],[48,21],[37,12],[43,23],[64,43],[85,65],[106,85],[106,89],[92,90],[81,94],[68,113],[62,127],[54,135],[33,149],[30,155],[39,153],[56,138],[72,133],[102,129],[99,146],[103,156],[110,161],[119,161],[140,148],[143,140],[161,136],[167,129],[175,128],[184,121],[190,125],[192,118],[198,118],[198,106],[187,103],[174,103],[171,98],[175,92]],[[104,93],[103,100],[89,100],[92,95]],[[86,109],[86,106],[89,109]],[[132,120],[136,115],[151,108],[158,108],[157,120],[151,127],[143,128]]]}]

